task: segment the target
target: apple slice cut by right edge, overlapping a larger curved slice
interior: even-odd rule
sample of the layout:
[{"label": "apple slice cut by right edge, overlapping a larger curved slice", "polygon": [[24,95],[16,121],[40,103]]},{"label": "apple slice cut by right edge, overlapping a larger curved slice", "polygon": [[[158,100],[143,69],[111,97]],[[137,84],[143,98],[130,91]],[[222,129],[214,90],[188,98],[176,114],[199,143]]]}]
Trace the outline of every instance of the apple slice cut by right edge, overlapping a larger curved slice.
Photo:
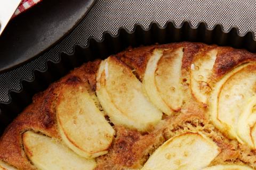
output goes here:
[{"label": "apple slice cut by right edge, overlapping a larger curved slice", "polygon": [[250,98],[238,119],[238,136],[251,148],[255,149],[256,96]]}]

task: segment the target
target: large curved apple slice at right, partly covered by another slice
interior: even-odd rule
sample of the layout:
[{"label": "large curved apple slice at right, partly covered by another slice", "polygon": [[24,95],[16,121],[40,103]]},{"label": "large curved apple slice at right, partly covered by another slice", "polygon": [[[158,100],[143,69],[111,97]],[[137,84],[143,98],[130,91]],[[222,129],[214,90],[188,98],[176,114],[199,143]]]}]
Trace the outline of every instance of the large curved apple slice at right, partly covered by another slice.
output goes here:
[{"label": "large curved apple slice at right, partly covered by another slice", "polygon": [[248,99],[255,94],[255,83],[256,66],[246,63],[217,82],[209,98],[209,113],[214,125],[241,143],[237,135],[238,118]]}]

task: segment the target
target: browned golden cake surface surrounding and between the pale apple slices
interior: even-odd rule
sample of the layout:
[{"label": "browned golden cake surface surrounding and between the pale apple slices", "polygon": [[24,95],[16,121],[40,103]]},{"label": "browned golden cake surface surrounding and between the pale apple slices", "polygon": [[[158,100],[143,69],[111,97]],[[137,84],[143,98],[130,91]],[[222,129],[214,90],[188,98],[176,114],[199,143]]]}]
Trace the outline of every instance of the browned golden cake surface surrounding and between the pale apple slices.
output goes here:
[{"label": "browned golden cake surface surrounding and between the pale apple slices", "polygon": [[[246,62],[255,61],[255,54],[243,49],[231,47],[217,47],[202,43],[172,43],[166,45],[153,45],[147,47],[127,48],[116,54],[115,60],[123,61],[135,70],[140,80],[145,73],[150,54],[155,48],[183,47],[182,76],[186,84],[189,79],[191,64],[198,53],[207,53],[213,48],[218,49],[217,58],[213,66],[212,79],[219,80],[228,71]],[[27,159],[22,148],[22,133],[28,130],[41,132],[49,137],[61,141],[55,118],[55,105],[61,87],[65,83],[89,82],[92,90],[96,88],[96,72],[100,60],[88,62],[71,71],[68,75],[49,86],[45,91],[33,97],[29,105],[6,128],[0,138],[0,160],[17,167],[18,169],[36,169]],[[181,111],[172,116],[163,116],[163,120],[156,129],[147,134],[130,130],[122,126],[115,126],[116,137],[109,153],[97,158],[96,169],[125,169],[141,168],[150,154],[162,143],[176,134],[191,131],[201,131],[210,137],[221,148],[221,153],[214,159],[212,165],[237,163],[256,167],[256,153],[248,147],[230,140],[220,133],[209,122],[205,114],[206,108],[191,99],[182,107]]]}]

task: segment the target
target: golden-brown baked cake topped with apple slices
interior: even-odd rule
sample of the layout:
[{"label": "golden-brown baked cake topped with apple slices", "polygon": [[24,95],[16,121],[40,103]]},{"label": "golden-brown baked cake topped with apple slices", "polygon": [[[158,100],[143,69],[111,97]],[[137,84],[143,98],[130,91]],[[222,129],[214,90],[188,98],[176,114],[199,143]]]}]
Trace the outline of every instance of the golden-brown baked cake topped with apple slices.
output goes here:
[{"label": "golden-brown baked cake topped with apple slices", "polygon": [[172,43],[84,63],[0,138],[0,169],[256,168],[256,54]]}]

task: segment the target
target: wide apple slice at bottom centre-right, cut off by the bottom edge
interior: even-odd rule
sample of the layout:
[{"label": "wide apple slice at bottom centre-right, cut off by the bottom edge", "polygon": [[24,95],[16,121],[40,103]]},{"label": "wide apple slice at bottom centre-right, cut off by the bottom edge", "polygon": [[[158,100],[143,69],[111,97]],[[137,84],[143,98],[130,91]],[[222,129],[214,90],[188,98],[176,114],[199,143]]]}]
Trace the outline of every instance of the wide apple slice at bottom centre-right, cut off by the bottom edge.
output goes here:
[{"label": "wide apple slice at bottom centre-right, cut off by the bottom edge", "polygon": [[201,133],[183,133],[167,140],[143,166],[142,170],[201,169],[220,153],[220,148]]}]

